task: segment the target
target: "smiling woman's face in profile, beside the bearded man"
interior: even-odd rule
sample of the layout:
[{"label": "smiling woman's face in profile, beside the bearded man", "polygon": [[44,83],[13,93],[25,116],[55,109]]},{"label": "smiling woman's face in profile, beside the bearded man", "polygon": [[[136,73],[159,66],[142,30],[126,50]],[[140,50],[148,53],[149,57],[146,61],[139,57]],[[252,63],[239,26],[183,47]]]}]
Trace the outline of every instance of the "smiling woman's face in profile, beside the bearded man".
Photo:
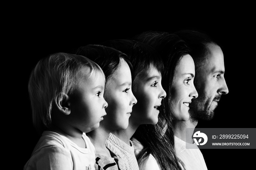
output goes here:
[{"label": "smiling woman's face in profile, beside the bearded man", "polygon": [[191,55],[184,55],[176,66],[172,93],[172,113],[176,120],[187,121],[189,119],[189,106],[192,99],[198,96],[193,84],[195,76],[195,64]]}]

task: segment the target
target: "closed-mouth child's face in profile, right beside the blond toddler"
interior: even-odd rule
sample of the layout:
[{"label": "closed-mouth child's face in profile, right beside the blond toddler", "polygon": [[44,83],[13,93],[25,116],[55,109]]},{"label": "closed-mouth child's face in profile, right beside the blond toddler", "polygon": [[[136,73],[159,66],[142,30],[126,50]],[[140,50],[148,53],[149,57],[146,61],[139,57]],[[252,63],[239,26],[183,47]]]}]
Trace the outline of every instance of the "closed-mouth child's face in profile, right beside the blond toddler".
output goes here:
[{"label": "closed-mouth child's face in profile, right beside the blond toddler", "polygon": [[106,84],[105,99],[108,102],[107,116],[102,123],[108,124],[110,130],[126,129],[131,116],[132,107],[137,103],[132,93],[131,70],[121,59],[120,68]]}]

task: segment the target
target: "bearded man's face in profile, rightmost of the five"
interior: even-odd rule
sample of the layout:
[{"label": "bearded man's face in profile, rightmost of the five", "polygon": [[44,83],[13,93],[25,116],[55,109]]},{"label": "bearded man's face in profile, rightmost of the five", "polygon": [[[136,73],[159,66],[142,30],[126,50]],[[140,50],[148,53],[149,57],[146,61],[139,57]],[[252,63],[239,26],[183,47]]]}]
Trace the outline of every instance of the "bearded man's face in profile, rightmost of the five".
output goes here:
[{"label": "bearded man's face in profile, rightmost of the five", "polygon": [[222,94],[229,92],[224,78],[225,66],[221,47],[207,45],[209,54],[206,63],[196,75],[199,97],[192,102],[191,117],[211,120]]}]

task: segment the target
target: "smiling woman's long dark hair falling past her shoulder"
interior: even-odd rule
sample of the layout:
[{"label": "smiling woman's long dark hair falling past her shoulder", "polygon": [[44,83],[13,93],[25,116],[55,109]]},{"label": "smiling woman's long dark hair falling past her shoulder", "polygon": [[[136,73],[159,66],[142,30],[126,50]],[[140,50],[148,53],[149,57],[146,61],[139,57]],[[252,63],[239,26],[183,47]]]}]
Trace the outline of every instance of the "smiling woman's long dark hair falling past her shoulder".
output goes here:
[{"label": "smiling woman's long dark hair falling past her shoulder", "polygon": [[[158,117],[158,123],[156,125],[146,125],[145,131],[154,132],[161,138],[160,144],[158,144],[158,151],[151,152],[154,157],[163,157],[164,159],[158,164],[162,169],[180,169],[178,166],[177,158],[174,151],[174,132],[173,132],[173,114],[171,111],[172,103],[172,84],[176,66],[180,62],[184,55],[190,54],[190,49],[184,40],[175,34],[169,34],[167,32],[143,32],[137,35],[135,39],[147,43],[155,48],[163,59],[165,66],[165,72],[162,77],[163,89],[166,91],[166,98],[163,100],[163,107],[160,107],[160,114]],[[161,131],[162,130],[162,131]],[[148,143],[146,140],[148,135],[140,134],[142,141],[150,147],[155,147],[154,143]],[[139,136],[139,135],[138,135]],[[154,139],[156,140],[156,139]],[[165,157],[170,158],[165,158]],[[160,157],[160,158],[161,158]],[[171,160],[170,160],[171,159]],[[158,161],[158,160],[157,160]],[[171,162],[171,163],[170,163]]]}]

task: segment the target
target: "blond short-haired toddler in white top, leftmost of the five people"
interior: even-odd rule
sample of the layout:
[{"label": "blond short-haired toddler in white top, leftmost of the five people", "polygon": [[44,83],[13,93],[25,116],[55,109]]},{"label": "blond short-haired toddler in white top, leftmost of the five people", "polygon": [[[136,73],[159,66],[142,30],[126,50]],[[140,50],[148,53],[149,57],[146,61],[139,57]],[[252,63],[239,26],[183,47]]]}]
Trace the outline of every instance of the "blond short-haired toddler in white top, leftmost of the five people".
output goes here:
[{"label": "blond short-haired toddler in white top, leftmost of the five people", "polygon": [[55,53],[31,72],[33,124],[42,136],[24,169],[94,170],[95,148],[86,136],[99,127],[108,103],[105,75],[81,55]]}]

